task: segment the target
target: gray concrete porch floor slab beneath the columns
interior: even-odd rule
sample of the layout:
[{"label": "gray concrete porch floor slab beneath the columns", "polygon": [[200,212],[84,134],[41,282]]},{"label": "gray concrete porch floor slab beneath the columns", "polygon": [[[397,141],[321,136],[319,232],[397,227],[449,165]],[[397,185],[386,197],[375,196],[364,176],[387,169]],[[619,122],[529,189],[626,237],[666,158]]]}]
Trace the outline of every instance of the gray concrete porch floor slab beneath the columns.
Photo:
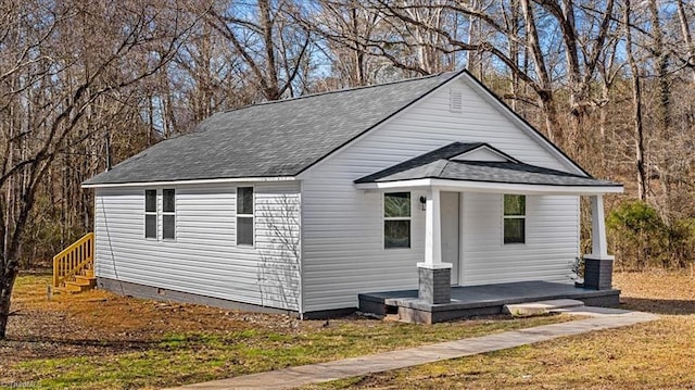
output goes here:
[{"label": "gray concrete porch floor slab beneath the columns", "polygon": [[450,303],[430,304],[417,290],[361,293],[359,311],[386,315],[397,312],[402,320],[433,324],[477,315],[501,314],[513,303],[573,299],[592,306],[617,306],[620,290],[592,290],[549,281],[519,281],[497,285],[452,287]]}]

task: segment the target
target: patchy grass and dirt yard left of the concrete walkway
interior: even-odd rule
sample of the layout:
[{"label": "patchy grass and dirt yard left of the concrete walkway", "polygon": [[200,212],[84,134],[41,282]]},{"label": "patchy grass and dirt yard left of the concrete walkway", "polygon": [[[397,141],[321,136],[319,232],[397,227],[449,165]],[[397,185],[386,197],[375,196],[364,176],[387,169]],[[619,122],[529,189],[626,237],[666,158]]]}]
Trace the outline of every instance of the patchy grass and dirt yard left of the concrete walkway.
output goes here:
[{"label": "patchy grass and dirt yard left of the concrete walkway", "polygon": [[568,320],[504,316],[420,326],[351,316],[296,320],[105,291],[47,301],[50,276],[17,280],[0,341],[0,388],[160,388]]}]

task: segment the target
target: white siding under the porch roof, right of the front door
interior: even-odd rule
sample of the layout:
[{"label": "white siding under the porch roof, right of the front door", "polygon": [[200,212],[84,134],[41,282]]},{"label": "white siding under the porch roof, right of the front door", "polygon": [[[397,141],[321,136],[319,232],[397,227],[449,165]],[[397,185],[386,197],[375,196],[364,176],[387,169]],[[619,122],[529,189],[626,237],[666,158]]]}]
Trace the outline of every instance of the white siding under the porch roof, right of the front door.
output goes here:
[{"label": "white siding under the porch roof, right of the front door", "polygon": [[503,196],[464,194],[462,284],[523,280],[570,282],[570,264],[579,255],[579,198],[526,197],[526,243],[504,244]]}]

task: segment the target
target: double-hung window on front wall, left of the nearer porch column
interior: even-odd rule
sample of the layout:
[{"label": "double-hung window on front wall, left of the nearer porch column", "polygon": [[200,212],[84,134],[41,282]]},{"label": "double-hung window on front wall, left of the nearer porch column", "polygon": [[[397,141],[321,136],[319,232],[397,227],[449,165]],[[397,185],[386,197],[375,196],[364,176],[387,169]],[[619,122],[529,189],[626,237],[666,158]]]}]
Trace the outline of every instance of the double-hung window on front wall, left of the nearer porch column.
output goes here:
[{"label": "double-hung window on front wall, left of the nearer porch column", "polygon": [[383,248],[410,248],[410,192],[383,194]]}]

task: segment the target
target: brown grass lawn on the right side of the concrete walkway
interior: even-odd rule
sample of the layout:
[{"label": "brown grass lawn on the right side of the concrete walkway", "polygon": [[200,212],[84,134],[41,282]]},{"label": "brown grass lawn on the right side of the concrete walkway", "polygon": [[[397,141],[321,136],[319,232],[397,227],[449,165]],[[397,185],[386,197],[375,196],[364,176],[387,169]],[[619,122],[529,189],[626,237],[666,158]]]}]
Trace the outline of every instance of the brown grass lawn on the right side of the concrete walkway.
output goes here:
[{"label": "brown grass lawn on the right side of the concrete walkway", "polygon": [[306,389],[695,389],[695,276],[619,273],[626,309],[653,323]]}]

